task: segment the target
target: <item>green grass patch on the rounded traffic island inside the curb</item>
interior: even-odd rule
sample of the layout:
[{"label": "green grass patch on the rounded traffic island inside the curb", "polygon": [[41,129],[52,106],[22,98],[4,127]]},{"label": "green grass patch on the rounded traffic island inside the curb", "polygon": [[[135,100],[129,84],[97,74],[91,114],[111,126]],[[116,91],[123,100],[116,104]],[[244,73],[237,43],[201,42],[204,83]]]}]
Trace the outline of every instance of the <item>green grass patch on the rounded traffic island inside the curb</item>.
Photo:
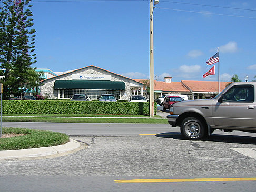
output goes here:
[{"label": "green grass patch on the rounded traffic island inside the curb", "polygon": [[65,144],[69,141],[66,134],[26,128],[2,128],[2,134],[24,134],[11,138],[0,138],[0,150],[17,150],[49,147]]}]

